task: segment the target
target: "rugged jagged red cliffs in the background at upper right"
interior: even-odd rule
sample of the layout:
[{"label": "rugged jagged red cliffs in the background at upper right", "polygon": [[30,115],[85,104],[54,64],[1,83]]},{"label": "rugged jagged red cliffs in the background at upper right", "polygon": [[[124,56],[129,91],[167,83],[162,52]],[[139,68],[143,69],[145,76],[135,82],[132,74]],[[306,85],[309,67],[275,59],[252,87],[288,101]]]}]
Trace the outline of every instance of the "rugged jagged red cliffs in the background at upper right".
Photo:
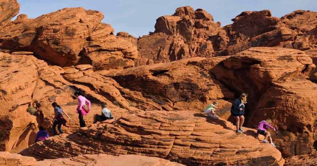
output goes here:
[{"label": "rugged jagged red cliffs in the background at upper right", "polygon": [[190,57],[233,55],[250,47],[315,49],[316,12],[297,10],[281,18],[269,10],[244,11],[220,27],[203,9],[180,7],[174,15],[159,17],[155,32],[138,40],[137,65]]}]

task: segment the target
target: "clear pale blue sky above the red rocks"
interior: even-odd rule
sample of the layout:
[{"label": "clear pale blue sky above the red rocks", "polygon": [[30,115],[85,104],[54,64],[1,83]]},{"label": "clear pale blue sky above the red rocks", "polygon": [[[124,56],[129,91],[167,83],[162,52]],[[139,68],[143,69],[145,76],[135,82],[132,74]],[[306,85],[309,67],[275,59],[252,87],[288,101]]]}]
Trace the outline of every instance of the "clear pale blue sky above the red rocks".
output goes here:
[{"label": "clear pale blue sky above the red rocks", "polygon": [[18,0],[19,14],[36,18],[66,7],[83,7],[99,10],[110,24],[115,34],[128,32],[139,37],[154,31],[156,19],[162,15],[172,15],[181,6],[191,6],[194,10],[204,9],[220,21],[222,26],[231,24],[231,19],[242,11],[269,9],[275,17],[281,17],[297,9],[317,12],[316,0]]}]

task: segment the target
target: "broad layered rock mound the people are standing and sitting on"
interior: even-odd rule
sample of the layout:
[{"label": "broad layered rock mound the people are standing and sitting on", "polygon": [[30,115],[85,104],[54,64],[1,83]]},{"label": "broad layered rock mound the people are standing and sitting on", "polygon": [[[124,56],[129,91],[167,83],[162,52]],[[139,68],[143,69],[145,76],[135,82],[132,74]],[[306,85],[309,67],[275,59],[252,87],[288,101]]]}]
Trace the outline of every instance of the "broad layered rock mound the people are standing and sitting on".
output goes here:
[{"label": "broad layered rock mound the people are standing and sitting on", "polygon": [[59,135],[21,152],[37,159],[81,154],[141,154],[186,165],[282,165],[281,153],[259,142],[255,130],[236,134],[225,120],[192,111],[146,111]]}]

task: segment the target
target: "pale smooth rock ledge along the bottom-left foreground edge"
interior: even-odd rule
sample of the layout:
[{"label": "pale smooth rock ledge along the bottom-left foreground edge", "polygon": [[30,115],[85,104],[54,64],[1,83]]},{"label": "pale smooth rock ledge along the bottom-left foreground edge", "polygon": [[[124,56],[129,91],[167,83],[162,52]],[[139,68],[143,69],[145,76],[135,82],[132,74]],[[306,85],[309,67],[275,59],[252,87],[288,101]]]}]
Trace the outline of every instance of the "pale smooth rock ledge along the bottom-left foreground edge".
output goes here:
[{"label": "pale smooth rock ledge along the bottom-left foreground edge", "polygon": [[107,166],[181,166],[183,164],[170,162],[157,157],[140,155],[111,156],[106,154],[81,155],[72,158],[36,161],[33,157],[25,157],[8,152],[0,152],[0,165],[6,166],[45,166],[45,165],[107,165]]}]

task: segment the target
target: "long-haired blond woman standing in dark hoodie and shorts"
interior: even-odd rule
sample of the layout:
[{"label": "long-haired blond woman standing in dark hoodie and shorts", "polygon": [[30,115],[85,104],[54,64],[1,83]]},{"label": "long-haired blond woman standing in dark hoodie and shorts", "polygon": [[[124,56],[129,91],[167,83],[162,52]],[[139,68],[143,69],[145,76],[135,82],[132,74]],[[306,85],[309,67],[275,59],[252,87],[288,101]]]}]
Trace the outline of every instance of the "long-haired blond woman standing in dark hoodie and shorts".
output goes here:
[{"label": "long-haired blond woman standing in dark hoodie and shorts", "polygon": [[244,122],[244,104],[247,103],[247,94],[243,93],[239,99],[236,99],[231,106],[231,115],[236,119],[236,133],[242,133],[242,125]]}]

